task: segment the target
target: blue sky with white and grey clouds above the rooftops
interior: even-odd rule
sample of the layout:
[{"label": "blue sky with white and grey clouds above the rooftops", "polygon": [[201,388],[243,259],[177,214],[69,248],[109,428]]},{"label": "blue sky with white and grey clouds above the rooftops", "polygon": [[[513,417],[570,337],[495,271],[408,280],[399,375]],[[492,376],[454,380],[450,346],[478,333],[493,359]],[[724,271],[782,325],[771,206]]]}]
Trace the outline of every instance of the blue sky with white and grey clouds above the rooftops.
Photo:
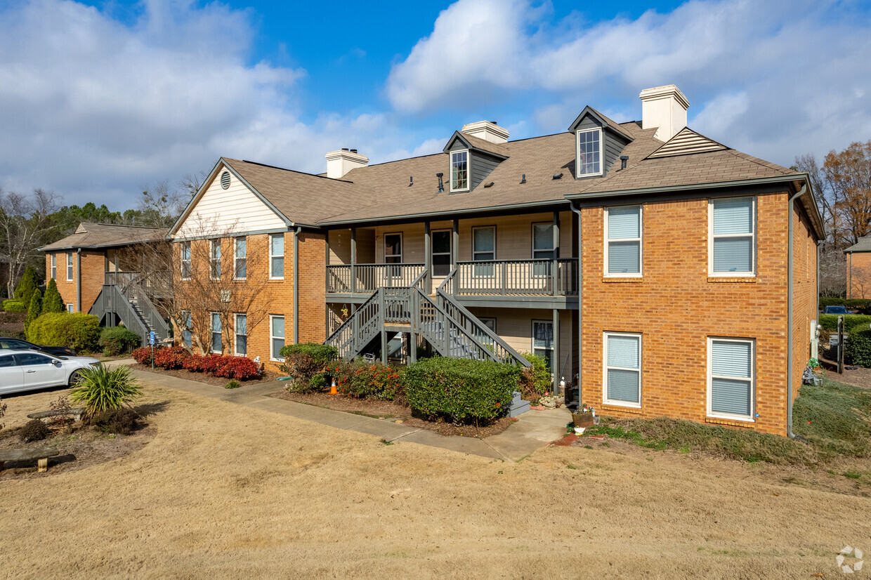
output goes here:
[{"label": "blue sky with white and grey clouds above the rooftops", "polygon": [[0,0],[0,187],[134,206],[221,155],[309,172],[348,146],[438,152],[592,105],[640,118],[678,84],[690,126],[783,165],[871,138],[868,2],[75,3]]}]

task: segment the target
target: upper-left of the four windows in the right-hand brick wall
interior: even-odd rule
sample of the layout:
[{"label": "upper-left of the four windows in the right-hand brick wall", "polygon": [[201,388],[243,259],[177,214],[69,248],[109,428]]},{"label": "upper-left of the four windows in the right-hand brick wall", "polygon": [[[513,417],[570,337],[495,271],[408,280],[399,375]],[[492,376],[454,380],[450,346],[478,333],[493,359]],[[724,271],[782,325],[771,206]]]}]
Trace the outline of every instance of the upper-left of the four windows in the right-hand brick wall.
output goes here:
[{"label": "upper-left of the four windows in the right-hand brick wall", "polygon": [[641,275],[641,206],[606,207],[604,210],[604,273],[606,276]]}]

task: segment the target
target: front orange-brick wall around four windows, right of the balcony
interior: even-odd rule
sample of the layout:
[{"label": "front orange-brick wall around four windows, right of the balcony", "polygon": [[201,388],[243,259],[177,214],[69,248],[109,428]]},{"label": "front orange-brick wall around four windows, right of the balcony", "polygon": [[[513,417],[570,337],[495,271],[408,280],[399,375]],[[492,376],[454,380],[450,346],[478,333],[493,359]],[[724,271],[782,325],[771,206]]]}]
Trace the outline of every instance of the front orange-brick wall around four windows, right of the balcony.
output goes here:
[{"label": "front orange-brick wall around four windows, right of the balcony", "polygon": [[[751,279],[708,277],[707,199],[645,204],[642,280],[604,278],[604,209],[582,210],[584,402],[608,415],[723,422],[707,418],[707,339],[752,338],[760,417],[723,423],[786,432],[787,193],[757,200]],[[640,409],[603,404],[605,331],[643,334]]]}]

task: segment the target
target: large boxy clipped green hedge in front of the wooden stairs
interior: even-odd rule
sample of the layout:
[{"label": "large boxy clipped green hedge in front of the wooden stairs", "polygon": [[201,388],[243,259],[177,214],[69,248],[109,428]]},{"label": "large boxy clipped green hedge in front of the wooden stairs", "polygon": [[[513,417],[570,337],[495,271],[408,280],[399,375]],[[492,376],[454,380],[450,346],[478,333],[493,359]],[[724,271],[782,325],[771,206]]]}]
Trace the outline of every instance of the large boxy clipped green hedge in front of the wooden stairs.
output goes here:
[{"label": "large boxy clipped green hedge in front of the wooden stairs", "polygon": [[405,372],[408,405],[426,417],[490,422],[505,415],[520,368],[492,361],[434,358]]}]

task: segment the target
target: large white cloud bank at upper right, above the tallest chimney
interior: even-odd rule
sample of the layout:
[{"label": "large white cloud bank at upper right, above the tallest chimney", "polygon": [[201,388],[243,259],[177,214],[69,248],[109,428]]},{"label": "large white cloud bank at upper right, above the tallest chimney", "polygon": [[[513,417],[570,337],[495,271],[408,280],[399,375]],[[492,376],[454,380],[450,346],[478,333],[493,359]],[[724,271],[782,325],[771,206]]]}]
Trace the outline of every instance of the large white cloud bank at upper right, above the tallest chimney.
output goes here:
[{"label": "large white cloud bank at upper right, above the tallest chimney", "polygon": [[[551,104],[526,114],[553,130],[588,104],[638,118],[641,89],[674,83],[699,131],[787,163],[871,136],[862,100],[871,91],[871,34],[860,9],[834,0],[692,0],[669,13],[588,24],[578,14],[551,23],[548,10],[519,0],[460,0],[394,65],[387,95],[422,114],[544,93]],[[486,49],[477,57],[479,44]],[[467,45],[473,50],[457,50]]]}]

